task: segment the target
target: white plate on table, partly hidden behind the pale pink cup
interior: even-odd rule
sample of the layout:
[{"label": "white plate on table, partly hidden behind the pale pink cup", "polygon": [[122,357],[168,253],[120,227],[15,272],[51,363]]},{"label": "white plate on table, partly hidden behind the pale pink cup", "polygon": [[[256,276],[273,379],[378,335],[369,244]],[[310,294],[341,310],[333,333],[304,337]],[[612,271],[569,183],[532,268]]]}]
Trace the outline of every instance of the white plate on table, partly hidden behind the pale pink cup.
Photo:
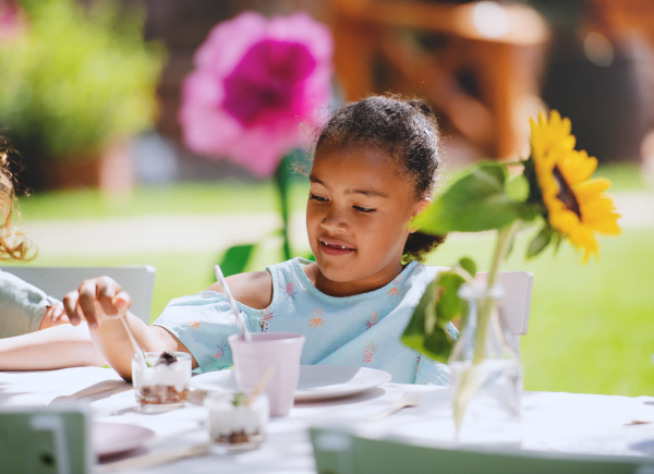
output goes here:
[{"label": "white plate on table, partly hidden behind the pale pink cup", "polygon": [[[390,374],[366,367],[340,365],[302,365],[295,401],[346,397],[390,381]],[[191,386],[201,390],[238,390],[233,369],[196,375]]]}]

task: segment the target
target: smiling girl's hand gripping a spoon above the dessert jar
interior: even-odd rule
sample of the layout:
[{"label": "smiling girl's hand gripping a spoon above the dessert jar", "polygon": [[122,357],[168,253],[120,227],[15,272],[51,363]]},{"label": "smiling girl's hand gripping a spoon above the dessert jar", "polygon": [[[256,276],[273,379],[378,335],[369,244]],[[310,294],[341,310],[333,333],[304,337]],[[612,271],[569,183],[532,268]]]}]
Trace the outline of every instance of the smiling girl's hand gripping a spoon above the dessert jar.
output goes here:
[{"label": "smiling girl's hand gripping a spoon above the dessert jar", "polygon": [[106,318],[124,315],[131,304],[132,297],[109,277],[84,280],[77,290],[63,296],[71,324],[77,326],[86,320],[90,329],[99,327]]}]

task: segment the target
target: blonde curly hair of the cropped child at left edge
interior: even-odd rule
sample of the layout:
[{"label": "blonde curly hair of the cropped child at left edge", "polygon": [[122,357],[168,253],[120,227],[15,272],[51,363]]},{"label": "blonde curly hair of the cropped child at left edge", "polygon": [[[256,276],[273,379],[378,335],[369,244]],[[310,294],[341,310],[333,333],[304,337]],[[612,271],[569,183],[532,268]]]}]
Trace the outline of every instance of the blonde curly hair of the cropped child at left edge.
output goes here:
[{"label": "blonde curly hair of the cropped child at left edge", "polygon": [[14,211],[13,174],[9,165],[14,150],[10,143],[0,135],[0,260],[29,260],[34,258],[32,242],[23,232],[11,223]]}]

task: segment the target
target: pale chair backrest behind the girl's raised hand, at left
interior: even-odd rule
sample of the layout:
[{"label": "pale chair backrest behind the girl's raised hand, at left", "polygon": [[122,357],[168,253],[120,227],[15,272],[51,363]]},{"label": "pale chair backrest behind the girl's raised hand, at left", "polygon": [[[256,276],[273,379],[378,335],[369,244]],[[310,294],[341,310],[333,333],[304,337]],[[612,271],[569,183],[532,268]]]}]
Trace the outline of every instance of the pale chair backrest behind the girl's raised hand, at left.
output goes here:
[{"label": "pale chair backrest behind the girl's raised hand, at left", "polygon": [[153,292],[155,289],[155,267],[149,265],[119,267],[2,267],[2,271],[13,274],[22,280],[41,289],[48,295],[62,300],[80,287],[82,281],[107,276],[120,283],[132,296],[131,312],[149,323]]}]

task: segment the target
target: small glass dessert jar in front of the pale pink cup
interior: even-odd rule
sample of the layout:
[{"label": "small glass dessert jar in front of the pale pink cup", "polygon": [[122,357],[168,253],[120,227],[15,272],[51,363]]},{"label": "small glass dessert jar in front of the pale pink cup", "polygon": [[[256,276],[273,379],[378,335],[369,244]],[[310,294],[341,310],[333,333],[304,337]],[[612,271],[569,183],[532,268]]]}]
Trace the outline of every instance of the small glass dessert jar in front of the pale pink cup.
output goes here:
[{"label": "small glass dessert jar in front of the pale pink cup", "polygon": [[209,392],[204,405],[209,415],[209,438],[215,452],[258,448],[270,417],[268,396],[250,392]]}]

